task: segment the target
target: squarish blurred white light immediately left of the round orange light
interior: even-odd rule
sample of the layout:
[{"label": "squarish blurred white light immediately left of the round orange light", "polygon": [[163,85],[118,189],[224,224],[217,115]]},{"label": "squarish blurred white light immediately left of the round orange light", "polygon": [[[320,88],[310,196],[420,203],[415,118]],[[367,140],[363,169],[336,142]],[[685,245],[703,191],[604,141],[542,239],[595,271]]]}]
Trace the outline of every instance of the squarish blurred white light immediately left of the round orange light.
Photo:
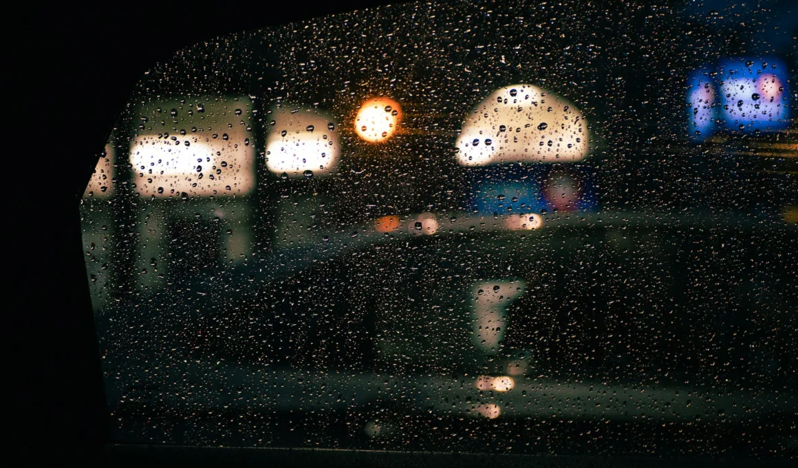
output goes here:
[{"label": "squarish blurred white light immediately left of the round orange light", "polygon": [[[267,168],[289,176],[318,176],[338,163],[338,132],[330,115],[283,105],[271,109],[267,137]],[[310,171],[310,173],[306,173]]]}]

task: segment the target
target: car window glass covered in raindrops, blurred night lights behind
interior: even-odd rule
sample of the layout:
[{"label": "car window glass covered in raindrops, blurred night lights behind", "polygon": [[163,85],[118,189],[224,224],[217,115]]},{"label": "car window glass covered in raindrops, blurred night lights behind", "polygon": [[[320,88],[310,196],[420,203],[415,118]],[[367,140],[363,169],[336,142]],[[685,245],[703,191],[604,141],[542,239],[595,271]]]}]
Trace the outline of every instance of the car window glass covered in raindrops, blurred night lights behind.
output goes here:
[{"label": "car window glass covered in raindrops, blurred night lights behind", "polygon": [[153,65],[81,204],[113,441],[798,456],[796,12],[706,3]]}]

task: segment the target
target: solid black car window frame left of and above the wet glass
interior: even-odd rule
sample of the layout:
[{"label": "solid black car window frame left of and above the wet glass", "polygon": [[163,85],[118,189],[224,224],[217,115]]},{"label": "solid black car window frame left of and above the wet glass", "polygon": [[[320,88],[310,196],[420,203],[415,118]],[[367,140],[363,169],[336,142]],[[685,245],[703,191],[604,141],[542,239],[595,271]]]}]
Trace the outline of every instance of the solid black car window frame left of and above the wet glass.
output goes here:
[{"label": "solid black car window frame left of and above the wet glass", "polygon": [[[12,374],[3,380],[12,391],[7,404],[14,419],[6,426],[12,451],[30,450],[28,462],[52,457],[93,463],[105,442],[105,397],[78,203],[140,77],[156,62],[207,38],[387,3],[247,3],[243,16],[235,11],[243,6],[235,4],[215,5],[214,14],[184,3],[59,5],[6,17],[21,21],[26,31],[8,38],[6,66],[18,81],[11,94],[22,97],[14,105],[22,117],[16,113],[12,118],[20,120],[11,123],[22,132],[15,132],[10,153],[16,156],[6,159],[7,167],[41,174],[15,180],[19,186],[9,190],[22,201],[12,201],[21,216],[6,223],[10,264],[24,270],[22,275],[16,268],[6,271],[19,300],[7,301],[3,314],[11,338],[6,358]],[[235,21],[225,21],[227,15]]]}]

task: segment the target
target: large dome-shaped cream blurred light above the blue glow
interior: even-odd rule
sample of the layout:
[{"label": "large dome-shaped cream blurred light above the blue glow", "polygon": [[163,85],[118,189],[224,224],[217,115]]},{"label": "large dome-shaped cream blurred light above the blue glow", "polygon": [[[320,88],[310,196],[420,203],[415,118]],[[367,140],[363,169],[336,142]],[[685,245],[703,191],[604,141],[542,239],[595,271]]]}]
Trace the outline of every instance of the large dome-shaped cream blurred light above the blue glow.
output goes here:
[{"label": "large dome-shaped cream blurred light above the blue glow", "polygon": [[587,139],[587,122],[574,105],[534,85],[511,85],[468,114],[456,141],[457,161],[578,161],[587,156]]}]

